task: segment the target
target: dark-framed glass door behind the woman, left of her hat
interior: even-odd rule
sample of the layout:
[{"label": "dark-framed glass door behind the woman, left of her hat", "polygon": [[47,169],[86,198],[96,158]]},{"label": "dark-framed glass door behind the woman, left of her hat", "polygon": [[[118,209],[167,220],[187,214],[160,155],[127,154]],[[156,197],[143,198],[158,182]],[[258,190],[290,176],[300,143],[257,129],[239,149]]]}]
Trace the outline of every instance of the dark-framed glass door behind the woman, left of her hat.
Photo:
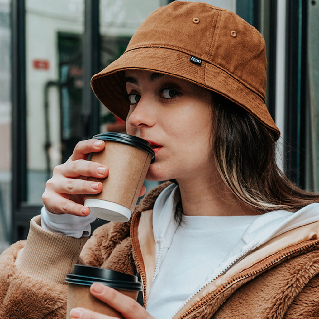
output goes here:
[{"label": "dark-framed glass door behind the woman, left of her hat", "polygon": [[[165,0],[12,0],[11,241],[26,238],[45,183],[80,140],[123,122],[101,106],[90,78],[120,56]],[[94,226],[93,226],[94,228]]]}]

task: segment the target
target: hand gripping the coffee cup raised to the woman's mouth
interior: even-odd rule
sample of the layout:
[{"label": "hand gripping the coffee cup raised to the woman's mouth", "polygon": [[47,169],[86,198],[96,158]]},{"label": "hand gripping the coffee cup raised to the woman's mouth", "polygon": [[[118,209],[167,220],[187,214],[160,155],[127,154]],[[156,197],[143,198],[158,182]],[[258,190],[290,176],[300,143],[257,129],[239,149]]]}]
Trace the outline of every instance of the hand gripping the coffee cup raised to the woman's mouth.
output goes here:
[{"label": "hand gripping the coffee cup raised to the woman's mouth", "polygon": [[43,204],[55,214],[68,213],[86,216],[90,209],[85,207],[85,194],[98,194],[102,191],[101,182],[87,181],[87,177],[105,178],[108,168],[96,162],[88,161],[91,152],[104,149],[104,142],[89,139],[75,146],[70,158],[54,168],[42,195]]}]

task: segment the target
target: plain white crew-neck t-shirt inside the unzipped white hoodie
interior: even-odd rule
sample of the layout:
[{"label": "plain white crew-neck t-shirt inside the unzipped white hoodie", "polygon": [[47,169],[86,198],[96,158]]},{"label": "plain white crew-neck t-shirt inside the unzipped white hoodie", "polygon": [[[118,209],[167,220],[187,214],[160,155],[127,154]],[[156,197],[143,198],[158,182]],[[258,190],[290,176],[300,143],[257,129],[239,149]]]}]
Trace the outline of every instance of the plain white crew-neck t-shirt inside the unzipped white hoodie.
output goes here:
[{"label": "plain white crew-neck t-shirt inside the unzipped white hoodie", "polygon": [[[154,278],[147,310],[169,318],[200,288],[258,216],[183,216]],[[165,305],[165,306],[163,306]]]}]

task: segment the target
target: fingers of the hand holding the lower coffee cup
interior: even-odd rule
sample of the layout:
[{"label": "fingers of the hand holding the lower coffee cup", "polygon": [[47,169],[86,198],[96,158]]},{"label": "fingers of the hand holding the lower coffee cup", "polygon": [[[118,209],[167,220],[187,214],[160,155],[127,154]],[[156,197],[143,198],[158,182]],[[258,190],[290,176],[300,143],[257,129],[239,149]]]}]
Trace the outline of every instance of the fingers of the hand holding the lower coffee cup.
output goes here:
[{"label": "fingers of the hand holding the lower coffee cup", "polygon": [[[132,298],[123,295],[113,288],[94,283],[90,287],[90,292],[94,297],[107,303],[109,306],[122,314],[125,319],[154,319],[139,303]],[[97,312],[74,308],[70,311],[71,319],[115,319],[108,315],[102,315]]]}]

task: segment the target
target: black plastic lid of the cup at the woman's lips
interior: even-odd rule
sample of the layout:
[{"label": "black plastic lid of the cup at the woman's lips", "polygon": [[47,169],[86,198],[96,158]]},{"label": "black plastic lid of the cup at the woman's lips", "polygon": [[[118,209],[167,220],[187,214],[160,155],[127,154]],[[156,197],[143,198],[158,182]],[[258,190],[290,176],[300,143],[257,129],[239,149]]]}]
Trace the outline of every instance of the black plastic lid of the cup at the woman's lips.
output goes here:
[{"label": "black plastic lid of the cup at the woman's lips", "polygon": [[147,142],[143,138],[116,132],[100,133],[94,135],[92,138],[135,146],[143,151],[149,152],[153,156],[151,164],[155,162],[155,153],[151,147],[151,143]]}]

